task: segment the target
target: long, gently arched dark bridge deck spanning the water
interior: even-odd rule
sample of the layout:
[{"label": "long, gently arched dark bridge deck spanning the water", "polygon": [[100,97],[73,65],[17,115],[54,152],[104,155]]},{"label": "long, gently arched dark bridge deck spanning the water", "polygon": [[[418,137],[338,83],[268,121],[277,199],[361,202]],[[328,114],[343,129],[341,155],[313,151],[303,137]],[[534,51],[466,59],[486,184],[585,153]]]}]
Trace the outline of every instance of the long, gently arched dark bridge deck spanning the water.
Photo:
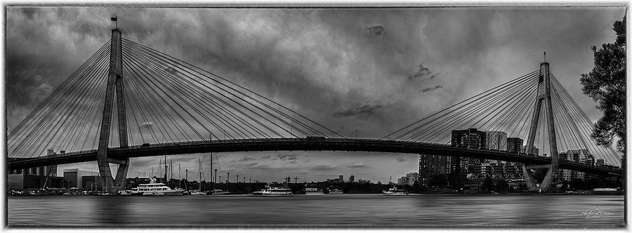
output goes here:
[{"label": "long, gently arched dark bridge deck spanning the water", "polygon": [[[346,138],[269,138],[172,142],[152,145],[134,145],[130,147],[109,148],[108,157],[127,159],[133,157],[151,157],[163,154],[195,154],[205,152],[263,152],[263,151],[345,151],[345,152],[383,152],[405,154],[437,154],[457,157],[496,159],[525,164],[551,164],[550,157],[539,157],[522,153],[510,153],[494,149],[452,147],[450,145],[407,142],[397,140],[346,139]],[[31,159],[8,159],[9,169],[46,166],[51,164],[72,164],[96,161],[96,149],[55,154]],[[619,169],[609,169],[574,161],[560,161],[560,168],[583,171],[598,175],[621,176]]]}]

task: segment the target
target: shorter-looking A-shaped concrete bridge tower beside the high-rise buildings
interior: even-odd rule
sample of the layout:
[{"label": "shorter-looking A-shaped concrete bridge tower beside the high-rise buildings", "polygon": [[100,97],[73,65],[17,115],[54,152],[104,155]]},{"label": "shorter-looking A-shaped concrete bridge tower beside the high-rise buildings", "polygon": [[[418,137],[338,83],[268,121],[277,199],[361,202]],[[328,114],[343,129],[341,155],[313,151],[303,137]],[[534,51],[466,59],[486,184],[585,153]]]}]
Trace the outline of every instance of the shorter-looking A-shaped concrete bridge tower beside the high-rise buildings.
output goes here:
[{"label": "shorter-looking A-shaped concrete bridge tower beside the high-rise buildings", "polygon": [[[527,145],[525,145],[525,147],[527,154],[533,154],[533,144],[537,133],[538,119],[541,113],[540,110],[543,107],[542,102],[544,102],[544,107],[546,107],[545,117],[548,127],[547,133],[550,149],[549,154],[551,154],[551,164],[545,166],[527,166],[527,164],[522,164],[522,173],[527,181],[527,189],[529,189],[529,191],[546,191],[551,186],[551,183],[556,180],[555,178],[558,175],[558,168],[560,166],[558,160],[558,145],[555,138],[555,122],[553,121],[553,102],[551,102],[551,77],[549,75],[548,62],[542,62],[540,64],[537,98],[531,124],[529,125],[529,138],[527,138]],[[548,168],[540,187],[536,187],[536,181],[530,171],[530,168]]]}]

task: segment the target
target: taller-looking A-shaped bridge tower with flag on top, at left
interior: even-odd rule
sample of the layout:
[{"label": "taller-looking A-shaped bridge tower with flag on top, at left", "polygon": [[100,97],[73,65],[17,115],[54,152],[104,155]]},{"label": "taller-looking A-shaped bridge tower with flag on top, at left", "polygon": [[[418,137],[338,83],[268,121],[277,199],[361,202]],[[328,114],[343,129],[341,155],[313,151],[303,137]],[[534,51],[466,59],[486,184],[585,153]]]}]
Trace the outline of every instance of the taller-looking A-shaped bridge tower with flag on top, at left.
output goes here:
[{"label": "taller-looking A-shaped bridge tower with flag on top, at left", "polygon": [[[101,119],[101,131],[97,149],[97,164],[101,178],[107,183],[107,190],[118,191],[124,188],[125,178],[129,168],[129,159],[113,159],[107,157],[107,146],[110,143],[110,124],[112,123],[112,104],[114,96],[117,100],[117,116],[120,147],[128,147],[127,122],[125,116],[125,102],[122,76],[122,41],[121,31],[112,29],[112,43],[110,45],[110,69],[107,73],[107,86],[105,91],[105,105],[103,105],[103,118]],[[119,164],[117,178],[112,178],[110,163]]]}]

